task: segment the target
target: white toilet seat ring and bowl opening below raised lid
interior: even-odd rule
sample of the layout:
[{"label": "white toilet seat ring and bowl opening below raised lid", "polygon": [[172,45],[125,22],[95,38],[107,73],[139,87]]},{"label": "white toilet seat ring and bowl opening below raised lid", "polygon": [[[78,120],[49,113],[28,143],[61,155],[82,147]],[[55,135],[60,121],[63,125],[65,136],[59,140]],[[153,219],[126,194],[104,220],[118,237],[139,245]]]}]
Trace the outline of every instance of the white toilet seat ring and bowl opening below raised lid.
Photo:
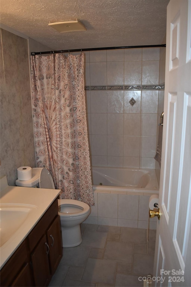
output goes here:
[{"label": "white toilet seat ring and bowl opening below raised lid", "polygon": [[88,213],[89,210],[89,205],[82,201],[74,199],[58,199],[58,215],[61,217],[75,217],[84,215]]}]

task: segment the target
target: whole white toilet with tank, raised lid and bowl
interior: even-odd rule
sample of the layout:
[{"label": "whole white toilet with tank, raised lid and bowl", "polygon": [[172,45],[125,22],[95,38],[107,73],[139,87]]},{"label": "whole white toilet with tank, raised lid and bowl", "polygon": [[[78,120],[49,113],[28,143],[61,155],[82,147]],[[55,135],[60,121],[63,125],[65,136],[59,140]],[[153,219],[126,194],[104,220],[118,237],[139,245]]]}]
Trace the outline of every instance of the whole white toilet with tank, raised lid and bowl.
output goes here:
[{"label": "whole white toilet with tank, raised lid and bowl", "polygon": [[[45,167],[32,168],[30,180],[16,180],[17,186],[55,189],[50,172]],[[58,215],[62,228],[62,247],[74,247],[82,242],[80,224],[90,214],[88,204],[74,199],[58,199]]]}]

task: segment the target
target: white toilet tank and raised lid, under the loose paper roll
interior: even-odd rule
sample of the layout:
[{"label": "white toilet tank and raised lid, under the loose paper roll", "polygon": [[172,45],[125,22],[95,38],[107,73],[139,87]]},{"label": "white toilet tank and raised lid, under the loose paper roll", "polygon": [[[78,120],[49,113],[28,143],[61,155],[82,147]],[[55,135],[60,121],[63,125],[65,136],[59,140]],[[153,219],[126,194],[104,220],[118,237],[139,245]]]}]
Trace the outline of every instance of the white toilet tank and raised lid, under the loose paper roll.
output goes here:
[{"label": "white toilet tank and raised lid, under the loose paper roll", "polygon": [[29,180],[16,180],[17,186],[40,187],[55,189],[54,182],[50,172],[45,167],[32,168],[32,178]]}]

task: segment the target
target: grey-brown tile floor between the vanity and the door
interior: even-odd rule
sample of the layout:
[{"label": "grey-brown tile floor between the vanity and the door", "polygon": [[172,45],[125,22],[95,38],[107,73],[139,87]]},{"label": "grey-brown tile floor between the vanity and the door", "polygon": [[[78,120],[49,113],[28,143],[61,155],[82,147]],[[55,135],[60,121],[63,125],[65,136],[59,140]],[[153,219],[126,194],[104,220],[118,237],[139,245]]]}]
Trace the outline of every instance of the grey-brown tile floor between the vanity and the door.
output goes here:
[{"label": "grey-brown tile floor between the vanity and the door", "polygon": [[82,224],[82,243],[63,248],[49,287],[143,286],[153,274],[156,230]]}]

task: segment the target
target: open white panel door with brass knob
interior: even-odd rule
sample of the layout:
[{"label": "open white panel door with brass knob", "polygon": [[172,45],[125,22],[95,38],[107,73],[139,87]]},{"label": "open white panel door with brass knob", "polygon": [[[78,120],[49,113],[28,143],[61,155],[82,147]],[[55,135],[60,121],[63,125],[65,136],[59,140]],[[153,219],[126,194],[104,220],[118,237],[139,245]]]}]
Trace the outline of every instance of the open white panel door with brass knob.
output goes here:
[{"label": "open white panel door with brass knob", "polygon": [[169,2],[166,44],[155,286],[191,286],[191,0]]}]

